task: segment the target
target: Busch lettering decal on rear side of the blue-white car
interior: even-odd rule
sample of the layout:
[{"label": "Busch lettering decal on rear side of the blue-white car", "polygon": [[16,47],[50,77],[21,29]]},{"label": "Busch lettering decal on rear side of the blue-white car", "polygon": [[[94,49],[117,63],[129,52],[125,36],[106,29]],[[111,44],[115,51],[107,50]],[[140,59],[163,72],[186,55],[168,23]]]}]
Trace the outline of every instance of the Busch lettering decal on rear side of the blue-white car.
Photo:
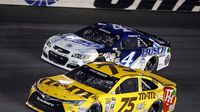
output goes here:
[{"label": "Busch lettering decal on rear side of the blue-white car", "polygon": [[165,55],[166,47],[143,48],[141,56]]}]

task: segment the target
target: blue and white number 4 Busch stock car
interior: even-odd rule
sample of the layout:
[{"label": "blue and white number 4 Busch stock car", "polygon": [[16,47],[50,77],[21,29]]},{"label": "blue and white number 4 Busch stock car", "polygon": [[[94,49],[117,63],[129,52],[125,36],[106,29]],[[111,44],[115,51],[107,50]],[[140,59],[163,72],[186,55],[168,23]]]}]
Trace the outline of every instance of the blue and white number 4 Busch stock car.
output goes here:
[{"label": "blue and white number 4 Busch stock car", "polygon": [[50,37],[41,58],[72,70],[95,61],[102,54],[106,61],[146,71],[168,66],[170,43],[154,35],[113,23],[95,23],[75,33]]}]

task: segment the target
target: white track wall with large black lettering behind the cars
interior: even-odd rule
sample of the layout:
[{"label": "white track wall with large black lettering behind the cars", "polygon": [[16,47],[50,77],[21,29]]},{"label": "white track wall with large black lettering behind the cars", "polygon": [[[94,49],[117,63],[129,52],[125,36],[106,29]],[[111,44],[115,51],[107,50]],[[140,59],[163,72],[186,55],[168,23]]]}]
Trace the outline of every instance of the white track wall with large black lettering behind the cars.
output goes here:
[{"label": "white track wall with large black lettering behind the cars", "polygon": [[0,4],[42,7],[200,12],[200,0],[0,0]]}]

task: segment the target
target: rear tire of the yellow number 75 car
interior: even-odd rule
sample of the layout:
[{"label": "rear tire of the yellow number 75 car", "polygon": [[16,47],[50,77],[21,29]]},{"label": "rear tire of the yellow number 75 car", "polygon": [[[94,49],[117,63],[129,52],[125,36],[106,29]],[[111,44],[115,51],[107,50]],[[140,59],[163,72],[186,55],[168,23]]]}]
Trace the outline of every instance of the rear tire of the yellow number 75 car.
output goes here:
[{"label": "rear tire of the yellow number 75 car", "polygon": [[162,106],[162,101],[156,101],[151,105],[148,112],[162,112]]}]

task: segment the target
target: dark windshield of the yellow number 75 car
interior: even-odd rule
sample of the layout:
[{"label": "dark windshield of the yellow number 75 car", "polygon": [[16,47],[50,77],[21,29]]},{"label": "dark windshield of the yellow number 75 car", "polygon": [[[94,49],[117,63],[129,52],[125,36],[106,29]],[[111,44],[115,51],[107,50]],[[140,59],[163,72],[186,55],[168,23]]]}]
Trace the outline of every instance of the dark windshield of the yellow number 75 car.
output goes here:
[{"label": "dark windshield of the yellow number 75 car", "polygon": [[86,65],[68,72],[65,75],[76,80],[77,82],[83,83],[106,93],[109,92],[118,81],[117,78],[109,77],[107,74],[94,70]]}]

